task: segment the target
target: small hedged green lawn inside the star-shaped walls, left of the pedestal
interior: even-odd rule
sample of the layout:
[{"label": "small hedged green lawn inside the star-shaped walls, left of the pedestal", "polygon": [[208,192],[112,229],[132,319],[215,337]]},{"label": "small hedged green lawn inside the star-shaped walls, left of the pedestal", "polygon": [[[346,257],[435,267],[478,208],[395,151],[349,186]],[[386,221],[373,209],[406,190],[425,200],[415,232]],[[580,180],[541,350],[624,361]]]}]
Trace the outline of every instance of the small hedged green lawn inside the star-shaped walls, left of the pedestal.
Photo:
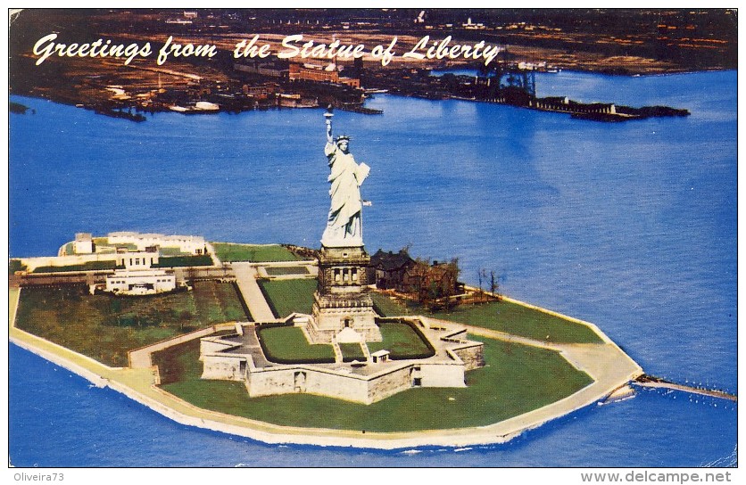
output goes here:
[{"label": "small hedged green lawn inside the star-shaped walls, left of the pedestal", "polygon": [[331,344],[310,344],[298,327],[259,327],[256,333],[259,336],[261,349],[270,362],[278,364],[331,364],[334,362],[334,349]]}]

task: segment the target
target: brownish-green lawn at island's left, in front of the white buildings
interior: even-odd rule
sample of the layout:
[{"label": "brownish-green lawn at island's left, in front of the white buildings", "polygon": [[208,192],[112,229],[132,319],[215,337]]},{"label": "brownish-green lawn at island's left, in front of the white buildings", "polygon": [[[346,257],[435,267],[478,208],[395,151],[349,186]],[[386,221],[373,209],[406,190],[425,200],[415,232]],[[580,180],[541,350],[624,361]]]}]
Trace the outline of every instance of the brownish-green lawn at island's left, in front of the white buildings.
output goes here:
[{"label": "brownish-green lawn at island's left, in front of the white buildings", "polygon": [[233,320],[246,320],[233,285],[197,282],[192,292],[142,297],[90,295],[84,286],[24,288],[16,326],[108,366],[128,366],[128,350]]}]

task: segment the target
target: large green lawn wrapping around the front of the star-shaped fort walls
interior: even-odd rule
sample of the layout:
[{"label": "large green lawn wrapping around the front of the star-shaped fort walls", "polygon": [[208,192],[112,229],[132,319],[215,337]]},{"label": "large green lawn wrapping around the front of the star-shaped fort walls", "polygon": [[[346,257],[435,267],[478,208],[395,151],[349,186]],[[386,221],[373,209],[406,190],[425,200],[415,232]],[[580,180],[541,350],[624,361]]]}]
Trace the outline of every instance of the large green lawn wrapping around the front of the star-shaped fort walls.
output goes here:
[{"label": "large green lawn wrapping around the front of the star-shaped fort walls", "polygon": [[366,406],[311,394],[249,398],[243,382],[203,381],[199,346],[164,350],[162,386],[197,407],[289,426],[407,432],[484,426],[565,398],[592,382],[558,353],[515,342],[485,341],[487,366],[467,373],[467,388],[417,388]]}]

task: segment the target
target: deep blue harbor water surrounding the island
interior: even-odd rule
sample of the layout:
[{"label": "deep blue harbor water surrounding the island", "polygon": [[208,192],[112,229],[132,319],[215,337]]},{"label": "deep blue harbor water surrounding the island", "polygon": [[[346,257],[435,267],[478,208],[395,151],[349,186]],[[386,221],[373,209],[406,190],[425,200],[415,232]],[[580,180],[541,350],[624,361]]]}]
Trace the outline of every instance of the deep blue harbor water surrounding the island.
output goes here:
[{"label": "deep blue harbor water surrounding the island", "polygon": [[[736,73],[543,78],[540,95],[668,104],[692,116],[601,124],[390,95],[369,102],[382,116],[336,112],[356,159],[371,167],[369,251],[410,244],[415,256],[459,257],[471,284],[478,268],[494,270],[511,296],[599,325],[646,372],[737,392]],[[10,119],[12,256],[53,254],[80,231],[319,245],[328,209],[320,110],[162,113],[136,124],[14,100],[36,114]],[[460,452],[278,447],[172,423],[25,350],[10,352],[10,453],[24,466],[736,459],[734,407],[681,393],[642,392],[508,445]]]}]

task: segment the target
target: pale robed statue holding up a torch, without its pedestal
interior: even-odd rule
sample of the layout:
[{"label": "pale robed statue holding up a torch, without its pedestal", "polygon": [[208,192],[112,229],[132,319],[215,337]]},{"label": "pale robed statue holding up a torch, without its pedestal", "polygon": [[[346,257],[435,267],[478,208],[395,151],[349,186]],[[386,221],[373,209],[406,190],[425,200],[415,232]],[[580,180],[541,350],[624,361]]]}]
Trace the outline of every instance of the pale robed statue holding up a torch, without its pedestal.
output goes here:
[{"label": "pale robed statue holding up a torch, without its pedestal", "polygon": [[370,168],[365,163],[358,164],[349,152],[350,137],[332,137],[332,117],[329,111],[324,113],[327,119],[327,144],[324,147],[329,160],[328,182],[331,184],[329,195],[331,207],[327,218],[327,228],[321,237],[321,243],[327,247],[362,246],[361,199],[360,186],[368,177]]}]

